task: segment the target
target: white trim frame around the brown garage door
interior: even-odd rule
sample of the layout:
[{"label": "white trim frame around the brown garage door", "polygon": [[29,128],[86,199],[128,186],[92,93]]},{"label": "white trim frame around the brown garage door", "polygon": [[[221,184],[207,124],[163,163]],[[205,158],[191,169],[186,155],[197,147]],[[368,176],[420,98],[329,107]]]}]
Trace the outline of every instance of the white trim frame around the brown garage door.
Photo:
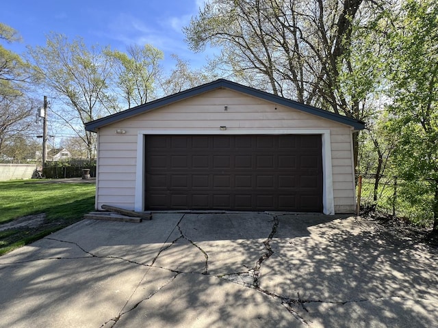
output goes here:
[{"label": "white trim frame around the brown garage door", "polygon": [[335,214],[331,163],[330,130],[321,129],[254,129],[254,130],[142,130],[137,135],[136,196],[134,210],[144,210],[144,135],[321,135],[323,213]]}]

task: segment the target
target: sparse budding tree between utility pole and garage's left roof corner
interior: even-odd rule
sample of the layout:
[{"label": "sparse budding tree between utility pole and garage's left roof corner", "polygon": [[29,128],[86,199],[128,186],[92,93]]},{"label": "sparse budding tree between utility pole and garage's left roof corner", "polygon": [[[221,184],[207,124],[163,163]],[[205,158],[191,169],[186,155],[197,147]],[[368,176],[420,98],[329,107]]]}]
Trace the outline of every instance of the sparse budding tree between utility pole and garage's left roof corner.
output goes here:
[{"label": "sparse budding tree between utility pole and garage's left roof corner", "polygon": [[84,132],[86,122],[118,111],[116,98],[108,92],[111,61],[98,46],[90,49],[81,39],[51,33],[45,47],[29,47],[43,84],[73,111],[53,112],[72,128],[94,158],[95,135]]}]

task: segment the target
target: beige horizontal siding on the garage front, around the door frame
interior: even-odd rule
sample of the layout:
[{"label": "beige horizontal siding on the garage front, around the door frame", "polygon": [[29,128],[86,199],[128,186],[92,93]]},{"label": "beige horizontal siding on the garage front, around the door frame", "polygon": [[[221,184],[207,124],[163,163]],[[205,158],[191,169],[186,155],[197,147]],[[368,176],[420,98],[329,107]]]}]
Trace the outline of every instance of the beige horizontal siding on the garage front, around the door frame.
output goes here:
[{"label": "beige horizontal siding on the garage front, around the door frame", "polygon": [[[227,106],[227,111],[224,110]],[[138,131],[329,130],[335,211],[355,208],[351,127],[266,100],[220,89],[175,102],[99,129],[97,206],[134,208]],[[117,129],[125,134],[116,134]],[[122,183],[123,182],[123,183]]]}]

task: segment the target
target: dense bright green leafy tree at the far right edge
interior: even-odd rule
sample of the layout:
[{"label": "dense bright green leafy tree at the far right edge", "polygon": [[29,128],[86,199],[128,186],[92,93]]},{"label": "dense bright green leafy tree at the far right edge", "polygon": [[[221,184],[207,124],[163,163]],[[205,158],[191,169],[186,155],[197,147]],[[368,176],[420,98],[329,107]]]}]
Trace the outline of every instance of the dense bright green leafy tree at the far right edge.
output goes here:
[{"label": "dense bright green leafy tree at the far right edge", "polygon": [[[438,3],[407,0],[394,20],[387,62],[396,169],[411,187],[428,185],[421,189],[432,196],[423,213],[432,213],[438,232]],[[411,200],[418,199],[420,189],[415,193]]]}]

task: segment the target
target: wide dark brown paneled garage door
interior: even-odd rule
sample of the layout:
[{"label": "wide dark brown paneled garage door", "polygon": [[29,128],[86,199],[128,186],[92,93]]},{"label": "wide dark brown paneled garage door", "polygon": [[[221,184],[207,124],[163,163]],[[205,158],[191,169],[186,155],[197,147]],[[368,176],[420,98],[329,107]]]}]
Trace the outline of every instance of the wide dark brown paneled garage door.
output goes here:
[{"label": "wide dark brown paneled garage door", "polygon": [[146,135],[145,207],[322,212],[320,135]]}]

